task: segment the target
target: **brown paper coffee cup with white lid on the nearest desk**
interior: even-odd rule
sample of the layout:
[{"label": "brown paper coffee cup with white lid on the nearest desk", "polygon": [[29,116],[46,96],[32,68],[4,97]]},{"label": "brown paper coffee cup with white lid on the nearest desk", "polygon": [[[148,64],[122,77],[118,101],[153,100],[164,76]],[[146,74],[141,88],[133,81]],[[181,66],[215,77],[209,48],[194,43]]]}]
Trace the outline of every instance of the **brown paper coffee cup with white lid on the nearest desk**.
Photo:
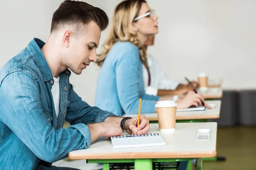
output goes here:
[{"label": "brown paper coffee cup with white lid on the nearest desk", "polygon": [[175,130],[177,103],[174,100],[162,100],[155,104],[159,129],[162,132]]}]

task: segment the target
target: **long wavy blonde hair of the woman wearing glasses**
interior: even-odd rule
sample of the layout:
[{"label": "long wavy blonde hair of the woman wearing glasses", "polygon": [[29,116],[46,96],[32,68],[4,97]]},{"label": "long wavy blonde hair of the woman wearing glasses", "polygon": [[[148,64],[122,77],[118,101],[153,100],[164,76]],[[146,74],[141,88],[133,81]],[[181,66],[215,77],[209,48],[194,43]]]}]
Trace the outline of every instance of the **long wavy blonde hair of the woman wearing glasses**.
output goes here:
[{"label": "long wavy blonde hair of the woman wearing glasses", "polygon": [[102,45],[103,50],[98,54],[96,64],[102,66],[108,52],[118,41],[128,41],[137,46],[140,51],[140,59],[143,65],[148,68],[147,55],[145,48],[137,38],[137,33],[131,29],[131,23],[138,17],[142,3],[145,0],[125,0],[119,3],[113,13],[111,28],[107,39]]}]

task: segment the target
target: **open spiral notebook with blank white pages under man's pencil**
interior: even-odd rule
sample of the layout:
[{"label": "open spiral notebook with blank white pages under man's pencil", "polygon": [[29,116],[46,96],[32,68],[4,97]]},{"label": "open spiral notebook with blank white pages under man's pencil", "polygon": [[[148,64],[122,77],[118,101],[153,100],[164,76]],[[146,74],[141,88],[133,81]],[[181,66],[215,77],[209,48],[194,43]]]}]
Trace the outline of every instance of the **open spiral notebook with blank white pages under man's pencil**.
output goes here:
[{"label": "open spiral notebook with blank white pages under man's pencil", "polygon": [[111,137],[114,148],[162,146],[166,142],[158,133],[145,135],[124,135]]}]

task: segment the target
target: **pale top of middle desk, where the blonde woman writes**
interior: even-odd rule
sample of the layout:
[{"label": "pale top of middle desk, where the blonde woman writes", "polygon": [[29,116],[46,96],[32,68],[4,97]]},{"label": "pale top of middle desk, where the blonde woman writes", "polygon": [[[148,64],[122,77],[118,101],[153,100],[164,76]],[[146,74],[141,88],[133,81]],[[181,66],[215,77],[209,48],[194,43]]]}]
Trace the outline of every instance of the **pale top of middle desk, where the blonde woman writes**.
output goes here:
[{"label": "pale top of middle desk, where the blonde woman writes", "polygon": [[[176,113],[176,120],[195,120],[195,119],[217,119],[220,117],[221,101],[212,100],[207,101],[209,105],[215,105],[212,109],[206,109],[205,111],[184,111]],[[143,113],[141,113],[143,114]],[[145,113],[143,114],[150,121],[157,121],[157,113]],[[136,117],[137,114],[124,114],[124,117]]]}]

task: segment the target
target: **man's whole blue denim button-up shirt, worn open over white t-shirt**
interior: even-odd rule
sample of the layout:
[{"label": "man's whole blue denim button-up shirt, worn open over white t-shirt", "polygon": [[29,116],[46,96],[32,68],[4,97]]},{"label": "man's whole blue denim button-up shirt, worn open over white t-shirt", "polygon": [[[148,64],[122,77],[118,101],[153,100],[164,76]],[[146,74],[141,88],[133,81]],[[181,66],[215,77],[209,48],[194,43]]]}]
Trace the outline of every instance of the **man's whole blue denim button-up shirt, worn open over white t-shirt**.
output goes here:
[{"label": "man's whole blue denim button-up shirt, worn open over white t-shirt", "polygon": [[[51,70],[33,39],[0,69],[0,170],[35,170],[41,160],[64,159],[91,143],[87,124],[113,113],[91,107],[69,83],[70,71],[59,74],[60,102],[56,117]],[[70,127],[62,128],[64,121]]]}]

